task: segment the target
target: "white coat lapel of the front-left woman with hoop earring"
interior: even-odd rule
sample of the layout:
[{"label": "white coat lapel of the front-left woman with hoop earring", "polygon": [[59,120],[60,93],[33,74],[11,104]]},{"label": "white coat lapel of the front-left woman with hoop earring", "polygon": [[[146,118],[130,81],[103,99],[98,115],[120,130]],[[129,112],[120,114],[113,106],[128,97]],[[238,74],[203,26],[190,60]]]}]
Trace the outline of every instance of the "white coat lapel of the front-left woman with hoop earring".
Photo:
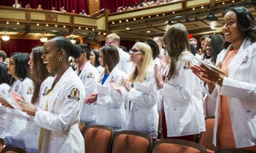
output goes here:
[{"label": "white coat lapel of the front-left woman with hoop earring", "polygon": [[[51,95],[48,98],[48,111],[52,111],[53,105],[60,94],[60,91],[63,89],[63,84],[66,83],[68,80],[68,77],[70,77],[70,72],[73,71],[72,68],[68,68],[66,72],[61,76],[60,80],[58,80],[57,84],[54,86],[54,88],[51,91]],[[54,83],[56,77],[53,79],[52,84]],[[51,84],[51,86],[52,86]]]}]

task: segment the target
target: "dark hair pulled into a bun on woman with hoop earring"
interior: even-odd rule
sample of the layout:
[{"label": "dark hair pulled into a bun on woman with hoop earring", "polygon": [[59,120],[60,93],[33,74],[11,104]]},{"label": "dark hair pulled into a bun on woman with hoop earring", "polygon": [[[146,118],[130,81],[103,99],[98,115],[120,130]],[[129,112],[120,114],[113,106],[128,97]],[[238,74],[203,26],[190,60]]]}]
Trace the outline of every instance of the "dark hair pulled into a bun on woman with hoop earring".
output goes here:
[{"label": "dark hair pulled into a bun on woman with hoop earring", "polygon": [[68,57],[70,56],[73,58],[80,57],[81,48],[76,44],[72,44],[70,39],[66,37],[55,37],[51,40],[55,43],[55,46],[57,47],[58,51],[65,50],[65,52],[67,53],[67,61]]}]

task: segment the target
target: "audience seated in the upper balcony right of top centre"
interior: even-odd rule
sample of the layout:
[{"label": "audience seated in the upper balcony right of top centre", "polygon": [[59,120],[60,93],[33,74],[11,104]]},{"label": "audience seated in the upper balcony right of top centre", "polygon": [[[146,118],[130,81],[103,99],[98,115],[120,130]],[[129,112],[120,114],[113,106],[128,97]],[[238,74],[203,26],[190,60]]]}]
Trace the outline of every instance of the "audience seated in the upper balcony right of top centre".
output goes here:
[{"label": "audience seated in the upper balcony right of top centre", "polygon": [[159,4],[165,4],[169,2],[175,2],[179,0],[142,0],[141,2],[136,2],[132,5],[129,6],[121,6],[116,9],[116,12],[125,12],[129,10],[134,10],[138,8],[145,8],[145,7],[151,7],[151,6],[156,6]]}]

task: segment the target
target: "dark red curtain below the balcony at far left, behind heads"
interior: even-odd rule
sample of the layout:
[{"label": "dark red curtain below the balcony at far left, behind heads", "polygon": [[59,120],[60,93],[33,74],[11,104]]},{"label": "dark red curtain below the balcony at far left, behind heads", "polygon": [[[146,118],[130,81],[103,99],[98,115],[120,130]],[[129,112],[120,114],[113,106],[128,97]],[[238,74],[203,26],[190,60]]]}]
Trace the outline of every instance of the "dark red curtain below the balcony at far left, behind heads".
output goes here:
[{"label": "dark red curtain below the balcony at far left, behind heads", "polygon": [[40,40],[28,40],[28,39],[10,39],[7,42],[1,39],[1,49],[6,52],[7,57],[12,53],[31,53],[31,49],[37,46],[43,45]]}]

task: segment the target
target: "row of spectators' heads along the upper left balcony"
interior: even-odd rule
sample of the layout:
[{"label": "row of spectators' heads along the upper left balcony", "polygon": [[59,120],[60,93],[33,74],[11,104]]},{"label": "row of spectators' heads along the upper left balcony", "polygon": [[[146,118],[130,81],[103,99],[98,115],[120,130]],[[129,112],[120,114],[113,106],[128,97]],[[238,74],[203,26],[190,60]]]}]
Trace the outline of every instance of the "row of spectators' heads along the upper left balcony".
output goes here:
[{"label": "row of spectators' heads along the upper left balcony", "polygon": [[[14,1],[14,4],[12,5],[13,8],[23,8],[22,4],[18,2],[18,0],[15,0]],[[28,8],[28,9],[31,9],[31,6],[30,4],[26,4],[24,8]],[[43,10],[41,4],[38,4],[37,8],[35,8],[37,10]],[[51,11],[57,11],[57,9],[55,7],[52,7],[51,8]],[[59,11],[58,12],[63,12],[63,13],[66,13],[66,9],[65,9],[65,6],[62,6],[59,8]],[[76,10],[75,9],[72,9],[72,11],[70,13],[73,13],[73,14],[76,14]],[[85,12],[85,9],[82,9],[81,12],[79,12],[80,15],[87,15],[87,13]]]}]

